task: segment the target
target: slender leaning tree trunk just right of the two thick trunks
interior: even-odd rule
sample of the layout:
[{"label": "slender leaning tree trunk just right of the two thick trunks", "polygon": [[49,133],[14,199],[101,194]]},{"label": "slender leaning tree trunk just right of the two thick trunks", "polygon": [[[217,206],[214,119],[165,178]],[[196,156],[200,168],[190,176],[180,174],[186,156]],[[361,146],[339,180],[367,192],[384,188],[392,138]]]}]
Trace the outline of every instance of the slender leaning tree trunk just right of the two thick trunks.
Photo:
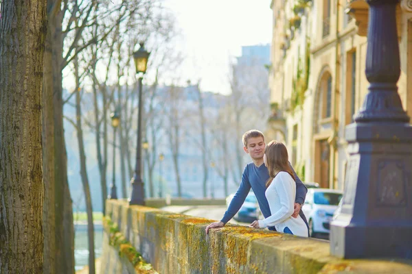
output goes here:
[{"label": "slender leaning tree trunk just right of the two thick trunks", "polygon": [[[74,60],[75,74],[76,74],[76,86],[79,86],[78,77],[78,61]],[[89,186],[89,177],[87,176],[86,166],[86,154],[84,153],[84,141],[82,130],[82,109],[80,105],[80,90],[76,90],[76,129],[79,145],[79,158],[80,158],[80,175],[82,177],[82,184],[84,190],[84,199],[86,200],[87,211],[87,236],[89,243],[89,274],[95,274],[95,253],[94,253],[94,225],[93,225],[93,208],[91,206],[91,194]]]}]

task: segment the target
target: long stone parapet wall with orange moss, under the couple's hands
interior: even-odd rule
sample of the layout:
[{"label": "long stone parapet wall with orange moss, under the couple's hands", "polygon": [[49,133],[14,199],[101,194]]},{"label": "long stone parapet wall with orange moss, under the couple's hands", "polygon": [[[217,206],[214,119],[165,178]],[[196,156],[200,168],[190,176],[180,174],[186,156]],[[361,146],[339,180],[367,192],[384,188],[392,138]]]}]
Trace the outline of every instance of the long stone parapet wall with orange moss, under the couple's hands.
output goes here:
[{"label": "long stone parapet wall with orange moss, under the couple's hands", "polygon": [[211,220],[126,201],[106,201],[106,214],[159,273],[412,273],[409,261],[339,260],[326,241],[263,229],[226,225],[207,236]]}]

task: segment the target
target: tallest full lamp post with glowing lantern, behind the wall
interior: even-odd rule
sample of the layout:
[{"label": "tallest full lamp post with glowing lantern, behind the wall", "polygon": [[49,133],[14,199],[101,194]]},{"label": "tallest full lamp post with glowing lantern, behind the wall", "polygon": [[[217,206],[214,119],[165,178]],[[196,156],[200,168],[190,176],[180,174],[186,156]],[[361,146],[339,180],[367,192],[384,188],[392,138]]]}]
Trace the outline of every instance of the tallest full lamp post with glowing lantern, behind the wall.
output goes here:
[{"label": "tallest full lamp post with glowing lantern, behind the wall", "polygon": [[144,108],[142,100],[143,75],[146,73],[150,53],[144,49],[144,43],[140,43],[140,49],[133,53],[136,73],[139,74],[139,110],[137,112],[137,151],[135,174],[130,180],[132,192],[130,193],[130,205],[144,205],[144,182],[141,177],[141,111]]}]

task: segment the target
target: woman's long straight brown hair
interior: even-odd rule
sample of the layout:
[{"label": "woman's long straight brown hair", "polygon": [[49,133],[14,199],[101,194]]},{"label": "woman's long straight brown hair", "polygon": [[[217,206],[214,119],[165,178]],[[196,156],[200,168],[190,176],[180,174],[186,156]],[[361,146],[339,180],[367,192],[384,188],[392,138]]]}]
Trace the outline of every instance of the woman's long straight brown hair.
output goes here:
[{"label": "woman's long straight brown hair", "polygon": [[268,164],[267,168],[269,171],[266,188],[271,185],[273,178],[280,171],[286,171],[295,179],[295,175],[289,165],[288,149],[286,149],[282,142],[276,142],[275,140],[269,142],[264,149],[264,153],[266,154],[266,163]]}]

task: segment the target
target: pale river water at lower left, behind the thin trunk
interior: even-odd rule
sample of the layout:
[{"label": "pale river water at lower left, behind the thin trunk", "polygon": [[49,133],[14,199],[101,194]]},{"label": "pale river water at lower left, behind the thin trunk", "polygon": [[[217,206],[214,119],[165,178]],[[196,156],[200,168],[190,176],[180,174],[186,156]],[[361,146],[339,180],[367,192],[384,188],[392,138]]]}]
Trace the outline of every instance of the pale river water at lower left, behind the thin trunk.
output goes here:
[{"label": "pale river water at lower left, behind the thin trunk", "polygon": [[[95,258],[99,258],[102,255],[102,238],[103,227],[101,224],[96,223],[95,229]],[[76,264],[76,271],[82,269],[89,264],[89,244],[87,238],[87,225],[76,224],[74,225],[74,262]]]}]

